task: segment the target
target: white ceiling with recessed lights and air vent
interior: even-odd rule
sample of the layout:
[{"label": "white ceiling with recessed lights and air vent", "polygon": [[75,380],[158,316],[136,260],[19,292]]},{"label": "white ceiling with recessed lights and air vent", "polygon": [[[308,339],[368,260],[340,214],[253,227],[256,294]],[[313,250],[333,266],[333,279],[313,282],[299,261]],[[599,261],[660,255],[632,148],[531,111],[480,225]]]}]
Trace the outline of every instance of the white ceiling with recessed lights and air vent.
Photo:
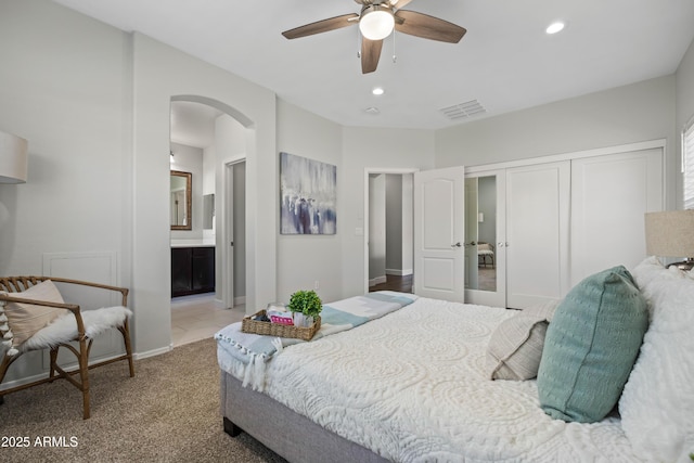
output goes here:
[{"label": "white ceiling with recessed lights and air vent", "polygon": [[[440,129],[440,110],[477,101],[474,118],[673,74],[694,38],[692,0],[415,0],[467,29],[450,44],[397,34],[362,75],[357,27],[287,40],[280,33],[358,13],[352,0],[54,0],[140,31],[345,126]],[[555,20],[567,27],[548,36]],[[383,86],[386,93],[371,94]],[[233,105],[233,102],[229,102]],[[367,113],[369,107],[380,113]],[[470,119],[467,119],[470,120]]]}]

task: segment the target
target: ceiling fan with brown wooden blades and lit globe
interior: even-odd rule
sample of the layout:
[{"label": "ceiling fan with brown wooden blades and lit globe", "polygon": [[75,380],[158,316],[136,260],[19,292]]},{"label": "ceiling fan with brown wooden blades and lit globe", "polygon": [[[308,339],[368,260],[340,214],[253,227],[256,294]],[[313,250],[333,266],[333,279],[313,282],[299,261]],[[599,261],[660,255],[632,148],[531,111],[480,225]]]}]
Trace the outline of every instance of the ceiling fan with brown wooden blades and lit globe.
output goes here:
[{"label": "ceiling fan with brown wooden blades and lit globe", "polygon": [[441,42],[458,43],[466,30],[448,21],[415,11],[401,10],[412,0],[355,0],[361,4],[361,12],[343,14],[316,23],[306,24],[282,33],[287,39],[312,36],[329,30],[359,24],[361,31],[361,72],[373,73],[378,66],[383,39],[393,29]]}]

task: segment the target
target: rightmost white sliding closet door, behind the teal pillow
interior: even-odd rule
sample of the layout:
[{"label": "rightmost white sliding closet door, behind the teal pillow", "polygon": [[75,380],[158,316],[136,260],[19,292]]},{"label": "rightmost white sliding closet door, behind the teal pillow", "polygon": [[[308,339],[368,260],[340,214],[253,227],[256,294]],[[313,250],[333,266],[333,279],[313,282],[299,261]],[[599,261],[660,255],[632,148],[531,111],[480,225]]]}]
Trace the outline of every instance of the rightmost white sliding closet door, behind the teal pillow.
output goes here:
[{"label": "rightmost white sliding closet door, behind the teal pillow", "polygon": [[645,257],[643,216],[663,210],[663,150],[571,162],[571,284]]}]

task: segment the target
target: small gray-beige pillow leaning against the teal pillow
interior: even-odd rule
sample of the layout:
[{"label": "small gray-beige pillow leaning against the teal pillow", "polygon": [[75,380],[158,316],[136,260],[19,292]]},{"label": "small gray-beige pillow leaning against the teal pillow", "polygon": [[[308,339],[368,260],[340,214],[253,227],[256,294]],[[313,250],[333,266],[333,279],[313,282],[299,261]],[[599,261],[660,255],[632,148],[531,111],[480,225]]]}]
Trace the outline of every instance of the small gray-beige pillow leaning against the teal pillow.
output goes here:
[{"label": "small gray-beige pillow leaning against the teal pillow", "polygon": [[487,347],[491,380],[532,380],[538,374],[544,334],[558,301],[531,307],[497,326]]}]

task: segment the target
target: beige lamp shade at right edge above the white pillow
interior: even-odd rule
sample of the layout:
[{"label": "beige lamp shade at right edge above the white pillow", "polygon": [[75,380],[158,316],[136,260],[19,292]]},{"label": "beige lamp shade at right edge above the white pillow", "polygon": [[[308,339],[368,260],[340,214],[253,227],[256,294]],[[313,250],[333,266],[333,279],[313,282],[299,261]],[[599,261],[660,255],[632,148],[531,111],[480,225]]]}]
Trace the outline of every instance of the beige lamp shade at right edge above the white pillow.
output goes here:
[{"label": "beige lamp shade at right edge above the white pillow", "polygon": [[646,254],[694,257],[694,209],[647,213]]}]

